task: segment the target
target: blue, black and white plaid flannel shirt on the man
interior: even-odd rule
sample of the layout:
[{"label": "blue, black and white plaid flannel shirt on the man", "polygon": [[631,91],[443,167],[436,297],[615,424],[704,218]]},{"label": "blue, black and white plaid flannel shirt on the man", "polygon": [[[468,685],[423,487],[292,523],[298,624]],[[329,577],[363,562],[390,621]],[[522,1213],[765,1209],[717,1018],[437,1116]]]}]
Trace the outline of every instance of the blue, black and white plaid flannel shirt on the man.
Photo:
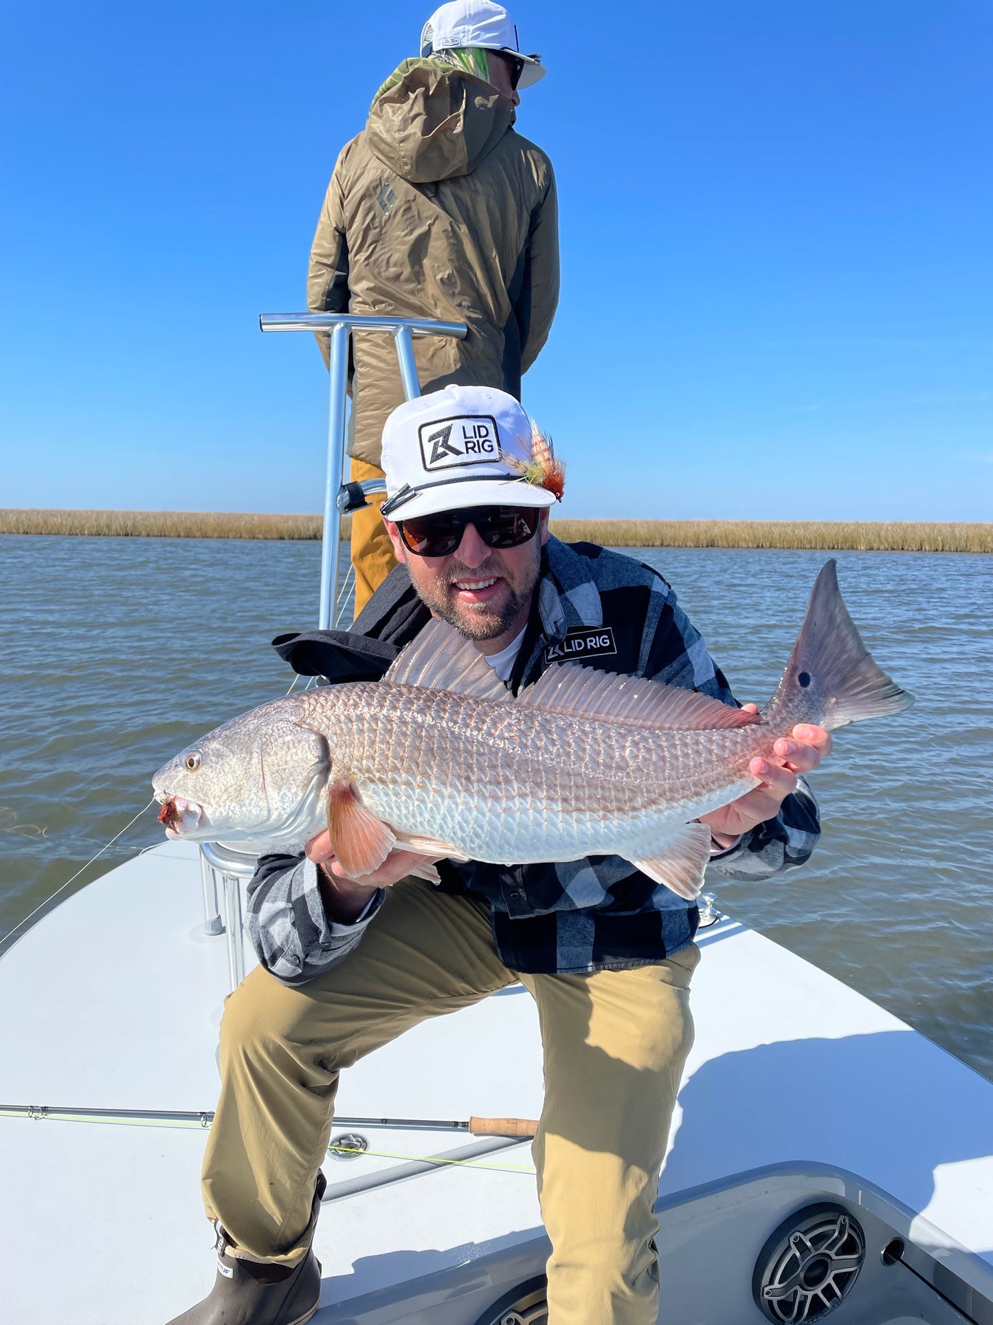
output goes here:
[{"label": "blue, black and white plaid flannel shirt on the man", "polygon": [[[428,619],[399,567],[354,629],[402,645]],[[653,677],[724,704],[737,702],[666,580],[651,567],[592,543],[548,541],[508,682],[514,693],[538,680],[549,651],[553,656],[579,652],[587,666]],[[775,819],[712,856],[708,874],[768,878],[801,865],[818,833],[817,803],[801,779]],[[659,962],[692,941],[699,920],[695,904],[620,856],[538,865],[442,861],[438,869],[446,892],[489,901],[496,951],[514,971],[564,974]],[[312,979],[357,945],[365,926],[375,924],[383,896],[376,893],[355,924],[332,924],[310,861],[263,857],[249,885],[249,933],[260,961],[285,983]]]}]

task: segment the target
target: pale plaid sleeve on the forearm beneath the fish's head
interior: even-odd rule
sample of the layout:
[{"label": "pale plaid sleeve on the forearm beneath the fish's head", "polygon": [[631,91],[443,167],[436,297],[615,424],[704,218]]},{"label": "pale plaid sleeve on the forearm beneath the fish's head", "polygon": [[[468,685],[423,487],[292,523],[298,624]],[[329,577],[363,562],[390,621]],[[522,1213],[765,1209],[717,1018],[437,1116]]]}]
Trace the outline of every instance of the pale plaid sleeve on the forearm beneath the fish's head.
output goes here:
[{"label": "pale plaid sleeve on the forearm beneath the fish's head", "polygon": [[318,868],[302,856],[262,856],[248,886],[248,931],[258,959],[282,984],[306,984],[357,947],[383,905],[373,893],[359,920],[328,918]]}]

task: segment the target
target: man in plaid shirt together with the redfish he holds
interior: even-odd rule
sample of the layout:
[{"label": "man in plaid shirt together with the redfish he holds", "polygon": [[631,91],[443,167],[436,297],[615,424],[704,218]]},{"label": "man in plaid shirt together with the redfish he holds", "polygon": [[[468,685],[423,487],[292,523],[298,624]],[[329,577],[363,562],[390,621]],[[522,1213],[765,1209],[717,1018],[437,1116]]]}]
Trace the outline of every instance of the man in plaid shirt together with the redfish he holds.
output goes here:
[{"label": "man in plaid shirt together with the redfish he holds", "polygon": [[549,537],[563,469],[506,392],[400,405],[383,457],[401,564],[352,653],[328,645],[343,684],[237,718],[155,778],[173,835],[269,852],[204,1161],[218,1277],[179,1321],[310,1318],[340,1069],[520,980],[544,1044],[549,1325],[649,1325],[703,869],[802,864],[820,832],[802,774],[828,729],[910,697],[831,562],[772,701],[739,708],[661,575]]}]

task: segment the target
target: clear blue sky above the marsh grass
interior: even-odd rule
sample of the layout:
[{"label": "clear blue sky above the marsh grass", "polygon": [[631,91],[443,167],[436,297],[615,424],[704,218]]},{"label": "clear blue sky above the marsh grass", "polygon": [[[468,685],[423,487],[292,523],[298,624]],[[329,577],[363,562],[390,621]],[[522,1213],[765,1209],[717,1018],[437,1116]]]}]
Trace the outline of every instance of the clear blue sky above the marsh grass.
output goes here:
[{"label": "clear blue sky above the marsh grass", "polygon": [[[331,167],[428,5],[9,5],[0,506],[320,507]],[[523,0],[563,514],[993,518],[989,0]]]}]

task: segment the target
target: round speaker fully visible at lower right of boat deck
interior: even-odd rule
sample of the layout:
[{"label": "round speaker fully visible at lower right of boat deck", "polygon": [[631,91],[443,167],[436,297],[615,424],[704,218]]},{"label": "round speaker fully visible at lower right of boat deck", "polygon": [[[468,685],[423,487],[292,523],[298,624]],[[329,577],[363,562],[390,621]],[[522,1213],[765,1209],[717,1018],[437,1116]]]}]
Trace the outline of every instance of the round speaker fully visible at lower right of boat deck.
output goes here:
[{"label": "round speaker fully visible at lower right of boat deck", "polygon": [[761,1249],[752,1295],[767,1320],[833,1318],[866,1259],[866,1235],[842,1206],[805,1206]]}]

